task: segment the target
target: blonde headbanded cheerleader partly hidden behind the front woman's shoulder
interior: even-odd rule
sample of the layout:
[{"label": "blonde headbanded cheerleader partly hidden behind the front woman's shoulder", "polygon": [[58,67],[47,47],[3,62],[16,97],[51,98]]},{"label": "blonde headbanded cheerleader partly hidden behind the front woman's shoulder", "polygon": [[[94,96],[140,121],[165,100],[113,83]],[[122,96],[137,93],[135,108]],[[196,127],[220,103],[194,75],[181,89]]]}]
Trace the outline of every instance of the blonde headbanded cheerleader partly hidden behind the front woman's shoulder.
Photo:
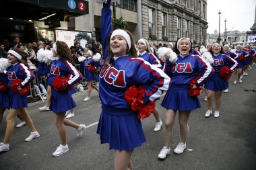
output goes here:
[{"label": "blonde headbanded cheerleader partly hidden behind the front woman's shoulder", "polygon": [[[157,68],[162,67],[160,60],[158,60],[158,58],[152,53],[150,44],[147,40],[143,38],[139,39],[137,41],[137,50],[139,51],[139,57],[143,58],[143,60],[150,62],[151,65],[154,65]],[[157,132],[161,129],[162,126],[162,120],[159,118],[159,112],[157,108],[154,109],[153,115],[156,119],[154,131]]]}]

